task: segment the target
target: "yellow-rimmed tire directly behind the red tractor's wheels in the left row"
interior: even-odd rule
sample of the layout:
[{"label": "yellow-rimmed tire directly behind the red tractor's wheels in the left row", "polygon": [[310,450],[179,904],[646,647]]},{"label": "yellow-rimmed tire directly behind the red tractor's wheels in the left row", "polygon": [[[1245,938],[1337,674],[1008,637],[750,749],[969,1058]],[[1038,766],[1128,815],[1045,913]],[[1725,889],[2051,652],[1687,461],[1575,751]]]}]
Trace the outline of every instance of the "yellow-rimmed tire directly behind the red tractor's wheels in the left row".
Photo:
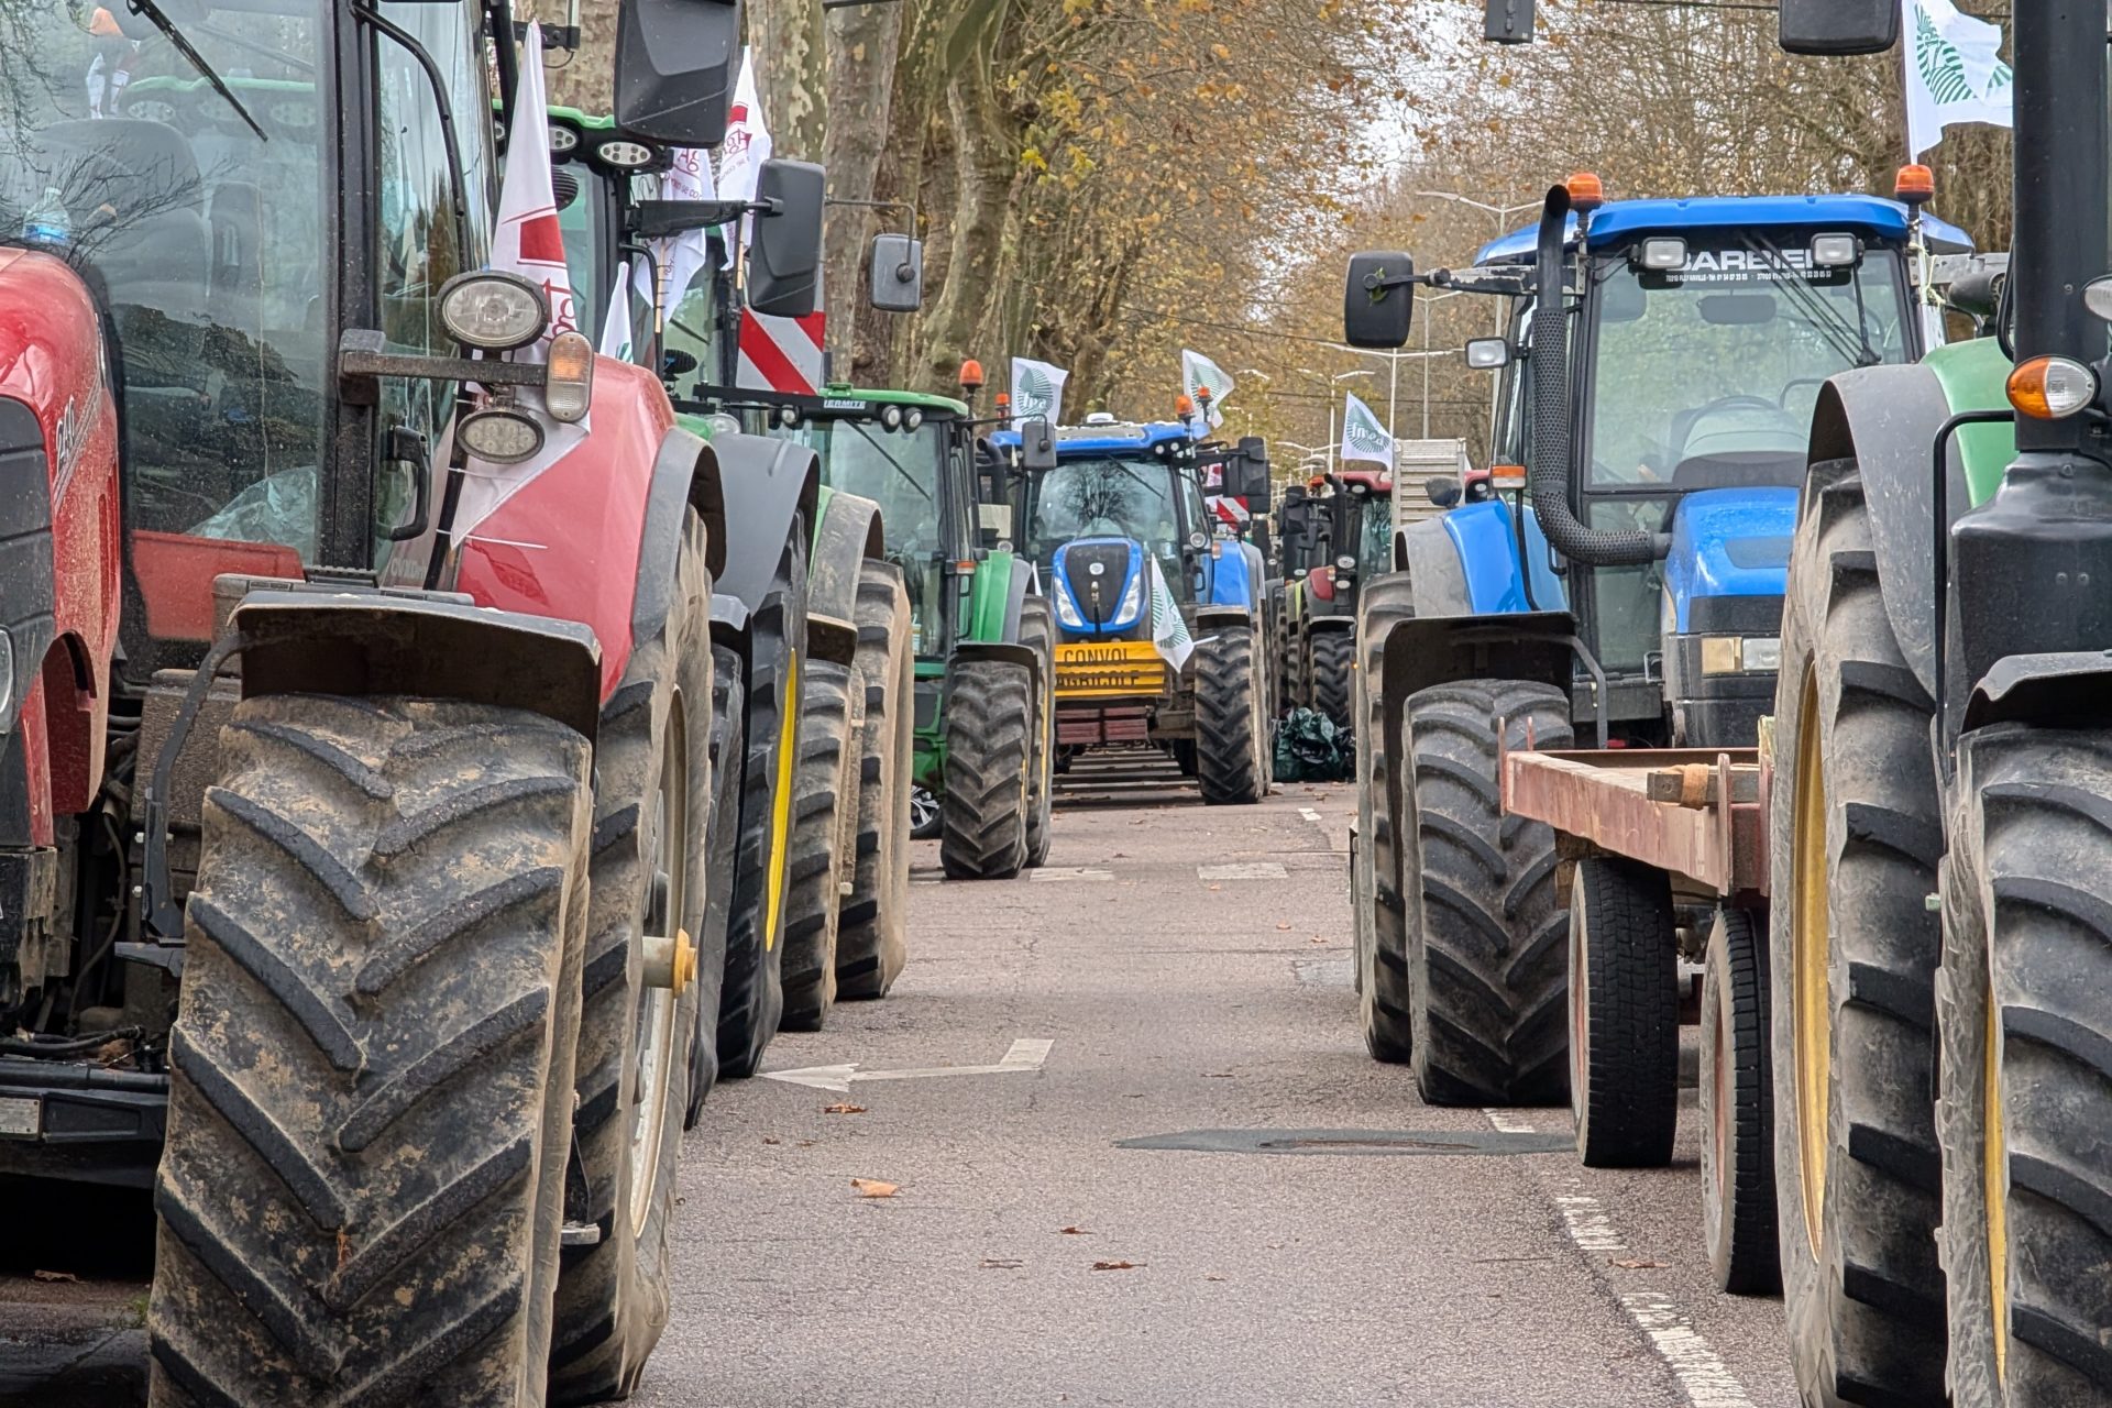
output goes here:
[{"label": "yellow-rimmed tire directly behind the red tractor's wheels in the left row", "polygon": [[807,528],[794,521],[771,589],[748,621],[741,834],[727,916],[727,984],[718,1001],[718,1072],[735,1081],[762,1068],[762,1051],[784,1017],[784,897],[805,663]]}]

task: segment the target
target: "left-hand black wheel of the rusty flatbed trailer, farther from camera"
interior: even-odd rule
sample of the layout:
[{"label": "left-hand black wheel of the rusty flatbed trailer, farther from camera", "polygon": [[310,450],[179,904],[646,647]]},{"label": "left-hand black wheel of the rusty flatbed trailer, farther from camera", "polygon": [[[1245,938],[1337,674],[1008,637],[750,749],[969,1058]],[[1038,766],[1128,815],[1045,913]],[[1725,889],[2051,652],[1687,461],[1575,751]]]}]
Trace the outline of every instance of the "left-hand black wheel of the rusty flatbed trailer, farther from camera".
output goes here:
[{"label": "left-hand black wheel of the rusty flatbed trailer, farther from camera", "polygon": [[1584,1167],[1664,1167],[1679,1127],[1679,948],[1662,870],[1605,855],[1569,887],[1569,1112]]}]

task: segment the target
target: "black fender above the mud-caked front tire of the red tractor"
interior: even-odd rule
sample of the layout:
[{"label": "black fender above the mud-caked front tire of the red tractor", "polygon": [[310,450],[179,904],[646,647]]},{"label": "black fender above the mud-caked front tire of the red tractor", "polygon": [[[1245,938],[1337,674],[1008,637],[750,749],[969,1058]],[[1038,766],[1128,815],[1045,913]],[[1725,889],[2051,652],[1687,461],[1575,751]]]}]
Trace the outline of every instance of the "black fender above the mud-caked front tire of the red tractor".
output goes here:
[{"label": "black fender above the mud-caked front tire of the red tractor", "polygon": [[602,711],[602,646],[555,616],[384,591],[251,591],[234,608],[243,699],[412,695],[528,709],[585,739]]}]

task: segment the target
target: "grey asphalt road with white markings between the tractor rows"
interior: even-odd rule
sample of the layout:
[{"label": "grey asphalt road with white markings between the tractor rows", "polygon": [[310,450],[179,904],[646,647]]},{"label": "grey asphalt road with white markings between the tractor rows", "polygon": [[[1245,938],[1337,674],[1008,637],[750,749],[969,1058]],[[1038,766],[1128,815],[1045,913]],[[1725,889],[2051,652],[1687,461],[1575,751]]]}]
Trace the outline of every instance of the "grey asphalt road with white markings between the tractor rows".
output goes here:
[{"label": "grey asphalt road with white markings between the tractor rows", "polygon": [[[1780,1302],[1706,1283],[1692,1091],[1675,1165],[1609,1174],[1567,1110],[1428,1108],[1364,1055],[1352,815],[1081,768],[1037,876],[940,882],[919,844],[895,992],[691,1136],[634,1402],[1793,1404]],[[944,1066],[997,1070],[868,1079]],[[139,1290],[0,1271],[0,1404],[139,1402]]]}]

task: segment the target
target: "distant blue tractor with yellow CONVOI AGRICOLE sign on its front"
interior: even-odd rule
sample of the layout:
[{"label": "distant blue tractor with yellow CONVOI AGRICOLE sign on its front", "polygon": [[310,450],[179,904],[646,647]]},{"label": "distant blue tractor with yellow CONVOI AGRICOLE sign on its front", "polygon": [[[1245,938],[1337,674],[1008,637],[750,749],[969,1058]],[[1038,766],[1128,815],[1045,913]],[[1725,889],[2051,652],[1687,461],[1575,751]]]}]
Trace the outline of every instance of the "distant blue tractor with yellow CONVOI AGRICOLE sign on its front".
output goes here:
[{"label": "distant blue tractor with yellow CONVOI AGRICOLE sign on its front", "polygon": [[[1157,745],[1204,802],[1267,796],[1267,572],[1204,505],[1189,426],[1094,414],[991,441],[1016,475],[1020,545],[1056,610],[1056,766],[1090,747]],[[1212,460],[1225,494],[1267,494],[1259,439]]]}]

